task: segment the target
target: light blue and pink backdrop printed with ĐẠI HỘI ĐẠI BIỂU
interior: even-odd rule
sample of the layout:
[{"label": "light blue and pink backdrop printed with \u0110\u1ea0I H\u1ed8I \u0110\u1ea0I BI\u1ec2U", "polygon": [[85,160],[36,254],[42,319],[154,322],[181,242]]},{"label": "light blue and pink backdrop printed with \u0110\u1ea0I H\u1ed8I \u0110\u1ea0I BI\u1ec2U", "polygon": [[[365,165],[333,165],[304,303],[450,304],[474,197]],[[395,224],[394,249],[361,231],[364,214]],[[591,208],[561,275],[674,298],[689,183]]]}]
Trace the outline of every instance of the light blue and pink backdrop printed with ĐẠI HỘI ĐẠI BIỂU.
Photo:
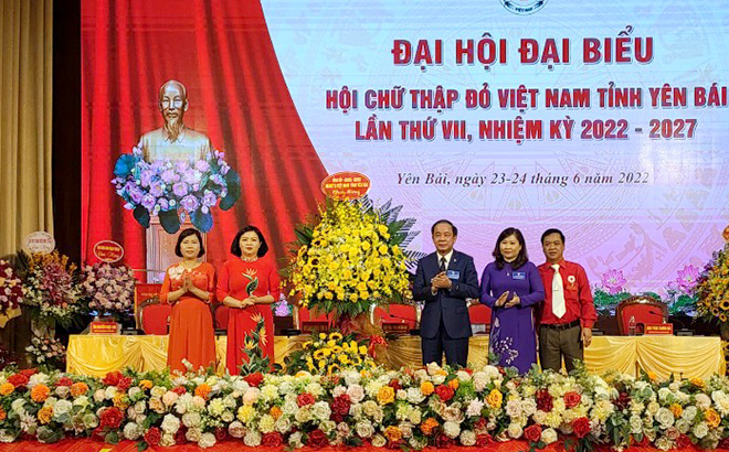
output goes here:
[{"label": "light blue and pink backdrop printed with \u0110\u1ea0I H\u1ed8I \u0110\u1ea0I BI\u1ec2U", "polygon": [[[524,2],[528,3],[528,2]],[[658,290],[676,278],[685,265],[702,266],[722,244],[729,223],[729,111],[726,107],[693,106],[694,88],[729,85],[729,13],[715,3],[685,1],[559,1],[540,11],[518,15],[499,0],[480,1],[263,1],[264,14],[296,109],[329,173],[360,171],[372,180],[371,195],[393,198],[419,218],[425,232],[414,247],[430,251],[430,225],[451,218],[461,229],[456,247],[476,258],[483,268],[498,233],[521,228],[535,262],[543,261],[539,236],[547,227],[567,235],[566,256],[581,262],[593,281],[609,269],[621,269],[633,290]],[[584,37],[617,37],[632,28],[631,37],[652,36],[648,64],[584,64]],[[488,32],[507,40],[506,65],[488,71],[482,64],[457,65],[455,41],[478,41]],[[570,64],[521,64],[519,40],[543,43],[552,37],[571,42]],[[394,40],[443,41],[443,64],[395,65]],[[431,50],[433,46],[431,45]],[[487,83],[489,109],[466,109],[465,89]],[[601,108],[599,88],[642,88],[642,106]],[[651,105],[648,88],[670,84],[687,88],[687,107]],[[499,88],[540,90],[537,108],[501,109]],[[327,109],[326,93],[347,86],[359,93],[359,108],[344,114]],[[400,110],[369,110],[367,89],[457,89],[454,108],[437,112],[410,106]],[[548,109],[547,88],[590,88],[591,107]],[[356,121],[367,123],[372,114],[393,122],[392,140],[357,140]],[[541,119],[541,140],[479,140],[480,120]],[[575,121],[571,140],[549,137],[553,119]],[[401,140],[397,122],[436,118],[432,141]],[[445,140],[440,122],[465,120],[473,141]],[[583,120],[626,120],[625,140],[585,140]],[[695,119],[693,138],[649,137],[651,121]],[[676,122],[670,121],[670,126]],[[636,131],[642,129],[642,131]],[[684,132],[687,128],[684,129]],[[658,131],[659,133],[659,131]],[[450,184],[426,184],[427,173],[447,174]],[[524,183],[500,182],[507,179]],[[569,179],[566,186],[532,183],[537,174]],[[621,173],[634,181],[620,183]],[[404,184],[404,175],[420,176]],[[580,174],[581,183],[574,183]],[[612,176],[612,182],[584,183],[585,175]],[[485,176],[480,186],[464,186],[456,176]],[[627,177],[624,177],[627,179]]]}]

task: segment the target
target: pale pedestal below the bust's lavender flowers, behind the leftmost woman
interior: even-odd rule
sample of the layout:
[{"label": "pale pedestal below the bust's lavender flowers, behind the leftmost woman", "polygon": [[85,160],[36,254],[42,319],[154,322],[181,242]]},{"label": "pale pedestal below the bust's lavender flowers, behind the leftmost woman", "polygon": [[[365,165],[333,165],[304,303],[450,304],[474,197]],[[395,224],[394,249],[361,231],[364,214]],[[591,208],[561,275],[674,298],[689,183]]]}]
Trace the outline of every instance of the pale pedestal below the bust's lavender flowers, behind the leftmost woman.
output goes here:
[{"label": "pale pedestal below the bust's lavender flowers, behind the leftmost woman", "polygon": [[[177,237],[183,229],[193,227],[188,218],[181,226],[180,230],[175,234],[168,234],[162,225],[159,223],[157,216],[149,219],[149,227],[147,228],[147,283],[161,284],[165,280],[165,271],[172,263],[179,262],[180,257],[175,255],[175,245],[177,245]],[[208,249],[208,235],[202,235],[202,246]],[[207,260],[207,256],[202,256],[202,261]]]}]

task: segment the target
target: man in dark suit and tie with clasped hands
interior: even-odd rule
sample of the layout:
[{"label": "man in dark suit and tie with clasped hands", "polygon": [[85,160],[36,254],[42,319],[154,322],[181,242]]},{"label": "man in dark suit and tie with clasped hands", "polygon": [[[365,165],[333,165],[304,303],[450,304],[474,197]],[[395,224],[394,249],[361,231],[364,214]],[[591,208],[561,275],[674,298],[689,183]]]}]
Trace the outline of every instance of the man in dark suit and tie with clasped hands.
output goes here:
[{"label": "man in dark suit and tie with clasped hands", "polygon": [[471,318],[466,299],[477,299],[478,275],[474,259],[455,251],[458,229],[447,219],[431,228],[435,252],[418,262],[413,298],[425,301],[420,321],[423,364],[443,362],[466,366]]}]

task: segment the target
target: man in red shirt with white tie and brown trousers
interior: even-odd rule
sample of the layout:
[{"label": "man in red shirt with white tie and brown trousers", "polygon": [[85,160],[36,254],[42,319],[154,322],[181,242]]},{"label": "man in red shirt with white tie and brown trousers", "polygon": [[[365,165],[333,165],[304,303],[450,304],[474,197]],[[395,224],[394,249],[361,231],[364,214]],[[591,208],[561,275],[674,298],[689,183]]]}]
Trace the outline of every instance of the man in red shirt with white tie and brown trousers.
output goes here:
[{"label": "man in red shirt with white tie and brown trousers", "polygon": [[539,310],[539,362],[542,369],[559,372],[563,356],[570,372],[574,359],[583,359],[583,346],[592,342],[598,313],[584,269],[564,260],[564,234],[547,229],[541,245],[547,261],[539,266],[545,283],[545,302]]}]

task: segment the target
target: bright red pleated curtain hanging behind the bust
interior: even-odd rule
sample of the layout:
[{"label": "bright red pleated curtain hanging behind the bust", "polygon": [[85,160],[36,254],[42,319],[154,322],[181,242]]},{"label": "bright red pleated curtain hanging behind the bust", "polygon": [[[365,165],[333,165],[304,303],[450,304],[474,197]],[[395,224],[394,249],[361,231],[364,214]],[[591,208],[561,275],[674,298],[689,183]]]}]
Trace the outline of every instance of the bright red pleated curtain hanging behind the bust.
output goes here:
[{"label": "bright red pleated curtain hanging behind the bust", "polygon": [[145,229],[110,180],[116,159],[162,126],[158,89],[186,85],[187,126],[208,134],[242,179],[235,206],[215,208],[208,260],[222,263],[237,229],[254,224],[274,257],[316,212],[326,171],[288,94],[260,1],[83,0],[82,255],[102,239],[145,268]]}]

